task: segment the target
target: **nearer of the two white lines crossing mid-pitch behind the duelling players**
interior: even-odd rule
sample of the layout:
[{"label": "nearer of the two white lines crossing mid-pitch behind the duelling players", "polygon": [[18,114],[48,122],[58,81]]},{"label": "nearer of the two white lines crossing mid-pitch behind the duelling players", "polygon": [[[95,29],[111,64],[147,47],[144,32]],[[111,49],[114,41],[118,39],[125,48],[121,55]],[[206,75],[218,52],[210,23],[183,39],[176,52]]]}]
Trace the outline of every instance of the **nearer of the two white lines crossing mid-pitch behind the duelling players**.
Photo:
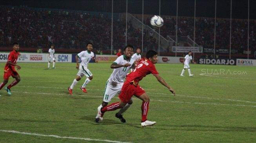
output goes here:
[{"label": "nearer of the two white lines crossing mid-pitch behind the duelling players", "polygon": [[[45,95],[64,95],[64,96],[70,96],[68,94],[56,94],[56,93],[38,93],[38,92],[18,92],[18,91],[12,91],[15,93],[28,93],[28,94],[45,94]],[[103,96],[92,96],[92,95],[72,95],[72,96],[81,96],[81,97],[98,97],[103,98]],[[118,97],[114,97],[118,98]],[[133,100],[140,100],[138,98],[133,98]],[[238,105],[238,104],[218,104],[218,103],[198,103],[198,102],[180,102],[180,101],[164,101],[164,100],[153,100],[151,101],[158,101],[158,102],[172,102],[172,103],[187,103],[187,104],[207,104],[207,105],[230,105],[230,106],[246,106],[246,107],[256,107],[256,105]]]}]

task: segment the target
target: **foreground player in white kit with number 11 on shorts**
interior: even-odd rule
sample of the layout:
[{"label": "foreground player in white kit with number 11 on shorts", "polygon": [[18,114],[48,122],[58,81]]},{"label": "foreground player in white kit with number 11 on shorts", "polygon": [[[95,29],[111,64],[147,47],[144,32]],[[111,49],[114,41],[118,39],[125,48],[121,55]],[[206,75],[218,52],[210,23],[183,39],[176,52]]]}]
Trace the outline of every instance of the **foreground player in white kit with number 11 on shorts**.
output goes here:
[{"label": "foreground player in white kit with number 11 on shorts", "polygon": [[[107,106],[107,104],[111,101],[111,99],[116,95],[116,93],[120,93],[123,82],[125,80],[125,77],[127,75],[127,72],[131,69],[134,65],[134,59],[131,58],[133,54],[133,46],[127,45],[124,48],[124,54],[121,55],[114,61],[110,68],[114,68],[113,73],[110,75],[109,79],[107,80],[105,91],[103,95],[103,101],[102,104],[98,108],[102,108]],[[125,123],[125,119],[122,116],[122,113],[124,113],[133,103],[133,100],[130,100],[125,107],[120,109],[118,113],[116,113],[116,118],[119,118],[121,122]],[[100,123],[100,119],[95,119],[96,123]]]}]

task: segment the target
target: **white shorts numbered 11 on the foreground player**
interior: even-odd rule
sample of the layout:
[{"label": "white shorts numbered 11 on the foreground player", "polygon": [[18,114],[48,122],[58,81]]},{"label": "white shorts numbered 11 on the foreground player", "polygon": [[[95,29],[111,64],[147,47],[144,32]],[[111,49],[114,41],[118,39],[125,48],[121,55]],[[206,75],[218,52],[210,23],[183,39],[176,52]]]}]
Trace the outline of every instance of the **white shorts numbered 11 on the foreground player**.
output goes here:
[{"label": "white shorts numbered 11 on the foreground player", "polygon": [[123,86],[123,82],[114,83],[114,82],[109,82],[109,80],[107,80],[103,101],[109,103],[111,99],[116,95],[116,93],[118,94],[120,93],[122,86]]}]

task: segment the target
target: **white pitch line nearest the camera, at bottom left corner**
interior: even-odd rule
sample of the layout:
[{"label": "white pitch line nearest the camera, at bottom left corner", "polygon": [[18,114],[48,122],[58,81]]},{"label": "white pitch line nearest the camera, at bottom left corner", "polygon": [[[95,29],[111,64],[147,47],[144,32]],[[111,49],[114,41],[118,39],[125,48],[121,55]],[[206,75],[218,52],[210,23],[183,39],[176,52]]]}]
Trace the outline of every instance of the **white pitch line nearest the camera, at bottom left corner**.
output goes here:
[{"label": "white pitch line nearest the camera, at bottom left corner", "polygon": [[62,138],[62,139],[80,139],[85,141],[104,141],[109,143],[129,143],[129,142],[121,142],[121,141],[111,141],[108,139],[90,139],[90,138],[76,138],[76,137],[68,137],[68,136],[56,136],[56,135],[45,135],[45,134],[36,134],[30,132],[18,132],[15,130],[0,130],[0,132],[11,132],[15,134],[26,134],[26,135],[33,135],[33,136],[44,136],[44,137],[53,137],[53,138]]}]

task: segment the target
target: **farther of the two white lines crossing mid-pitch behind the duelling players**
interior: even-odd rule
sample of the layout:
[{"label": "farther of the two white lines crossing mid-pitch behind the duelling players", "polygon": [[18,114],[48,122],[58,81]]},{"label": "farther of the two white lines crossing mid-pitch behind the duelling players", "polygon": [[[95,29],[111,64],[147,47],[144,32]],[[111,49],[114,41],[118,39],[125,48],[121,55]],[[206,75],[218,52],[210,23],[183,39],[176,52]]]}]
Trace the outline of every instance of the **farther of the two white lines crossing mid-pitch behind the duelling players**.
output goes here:
[{"label": "farther of the two white lines crossing mid-pitch behind the duelling players", "polygon": [[[67,88],[44,87],[44,86],[18,86],[18,87],[67,89]],[[100,89],[86,89],[86,90],[104,91],[104,90],[100,90]],[[147,93],[151,93],[151,94],[161,94],[161,95],[172,95],[171,93],[170,93],[170,94],[166,94],[166,93],[152,93],[152,92],[147,92]],[[195,96],[188,96],[188,95],[176,95],[176,96],[191,97],[191,98],[203,98],[203,99],[213,99],[213,100],[229,100],[229,101],[247,102],[247,103],[255,103],[255,104],[256,104],[256,102],[251,102],[251,101],[234,100],[234,99],[225,99],[225,98],[195,97]]]}]

